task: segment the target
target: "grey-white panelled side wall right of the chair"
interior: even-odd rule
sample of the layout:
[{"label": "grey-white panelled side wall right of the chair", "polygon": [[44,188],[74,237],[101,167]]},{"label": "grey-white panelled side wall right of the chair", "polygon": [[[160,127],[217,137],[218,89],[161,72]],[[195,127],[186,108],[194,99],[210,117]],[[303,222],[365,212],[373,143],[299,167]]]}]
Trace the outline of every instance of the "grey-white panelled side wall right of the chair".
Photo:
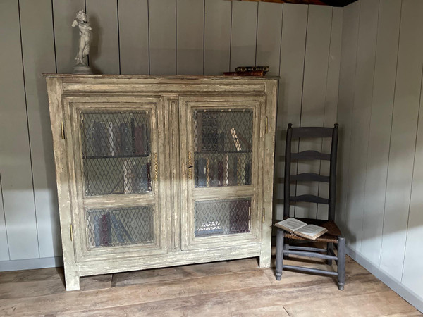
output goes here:
[{"label": "grey-white panelled side wall right of the chair", "polygon": [[343,8],[338,224],[349,254],[423,311],[423,1]]}]

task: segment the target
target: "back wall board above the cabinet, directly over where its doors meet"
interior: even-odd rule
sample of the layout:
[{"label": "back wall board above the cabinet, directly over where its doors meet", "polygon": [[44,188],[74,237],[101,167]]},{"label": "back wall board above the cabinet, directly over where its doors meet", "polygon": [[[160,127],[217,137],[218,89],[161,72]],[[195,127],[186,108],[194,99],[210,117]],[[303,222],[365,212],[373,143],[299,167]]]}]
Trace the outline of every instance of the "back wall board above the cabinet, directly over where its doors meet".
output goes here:
[{"label": "back wall board above the cabinet, directly over where its doors meet", "polygon": [[176,0],[149,1],[150,75],[176,74]]}]

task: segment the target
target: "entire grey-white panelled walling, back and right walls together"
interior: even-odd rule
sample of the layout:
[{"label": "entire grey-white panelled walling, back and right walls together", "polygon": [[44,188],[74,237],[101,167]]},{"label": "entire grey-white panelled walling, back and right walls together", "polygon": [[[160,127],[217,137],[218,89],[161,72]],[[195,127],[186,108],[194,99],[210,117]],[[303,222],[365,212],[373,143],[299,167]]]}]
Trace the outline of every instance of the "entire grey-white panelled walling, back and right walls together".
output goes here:
[{"label": "entire grey-white panelled walling, back and right walls together", "polygon": [[[338,120],[337,221],[350,254],[422,305],[420,0],[360,0],[345,8],[226,0],[1,0],[0,271],[61,263],[42,73],[71,73],[78,47],[71,23],[80,9],[92,24],[90,65],[97,73],[220,75],[236,66],[270,66],[269,75],[280,77],[275,220],[283,215],[286,126],[332,127]],[[326,141],[296,144],[310,145],[330,149]],[[329,171],[326,163],[293,168]],[[324,197],[327,187],[296,190]],[[298,204],[291,213],[324,218],[327,208]]]}]

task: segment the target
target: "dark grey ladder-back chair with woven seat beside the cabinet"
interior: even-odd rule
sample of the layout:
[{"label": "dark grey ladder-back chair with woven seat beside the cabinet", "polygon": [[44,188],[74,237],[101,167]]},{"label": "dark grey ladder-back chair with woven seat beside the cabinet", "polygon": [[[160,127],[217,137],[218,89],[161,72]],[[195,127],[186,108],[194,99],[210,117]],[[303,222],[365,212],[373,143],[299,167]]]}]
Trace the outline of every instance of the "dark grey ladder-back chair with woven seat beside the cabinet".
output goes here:
[{"label": "dark grey ladder-back chair with woven seat beside the cabinet", "polygon": [[[323,138],[331,137],[331,153],[323,154],[317,151],[301,151],[298,153],[291,152],[292,139],[300,138]],[[286,133],[286,152],[285,152],[285,181],[283,193],[283,218],[290,217],[290,204],[298,201],[310,203],[328,204],[329,213],[327,220],[298,218],[308,224],[321,225],[328,229],[324,235],[318,237],[317,240],[307,240],[298,237],[290,232],[286,232],[278,228],[276,236],[276,280],[281,280],[283,269],[291,269],[295,271],[303,271],[308,273],[318,273],[326,275],[335,275],[338,277],[338,289],[343,290],[345,284],[345,238],[341,236],[341,231],[335,224],[335,197],[336,197],[336,154],[338,151],[338,124],[334,128],[292,128],[292,124],[288,125]],[[315,173],[302,173],[291,175],[291,161],[293,160],[327,160],[330,161],[330,175],[319,175]],[[317,181],[329,182],[329,199],[324,199],[314,195],[291,196],[290,182]],[[306,240],[310,242],[325,242],[326,249],[315,247],[291,246],[293,240]],[[338,249],[338,255],[333,251],[333,247]],[[288,266],[283,264],[283,256],[298,255],[309,256],[319,259],[326,259],[331,265],[332,260],[336,261],[338,271],[326,271],[316,268],[306,268],[303,266]]]}]

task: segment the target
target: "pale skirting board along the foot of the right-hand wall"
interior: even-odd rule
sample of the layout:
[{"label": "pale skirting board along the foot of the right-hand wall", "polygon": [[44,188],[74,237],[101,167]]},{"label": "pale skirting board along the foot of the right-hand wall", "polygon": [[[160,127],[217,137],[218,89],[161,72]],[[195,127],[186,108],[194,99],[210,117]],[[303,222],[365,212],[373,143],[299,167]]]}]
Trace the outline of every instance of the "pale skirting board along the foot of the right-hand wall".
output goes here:
[{"label": "pale skirting board along the foot of the right-hand wall", "polygon": [[398,282],[398,280],[392,278],[391,275],[388,275],[387,273],[382,271],[381,268],[378,268],[369,260],[364,258],[364,256],[362,256],[357,251],[351,249],[348,246],[347,254],[355,261],[357,261],[357,263],[363,266],[367,271],[376,276],[376,278],[379,278],[379,280],[388,285],[388,287],[390,287],[394,292],[400,295],[400,297],[403,297],[403,299],[405,299],[407,302],[412,304],[412,306],[415,306],[416,309],[423,313],[423,299],[419,297],[415,292],[412,292],[412,290],[410,290],[408,287],[405,287],[403,284]]}]

